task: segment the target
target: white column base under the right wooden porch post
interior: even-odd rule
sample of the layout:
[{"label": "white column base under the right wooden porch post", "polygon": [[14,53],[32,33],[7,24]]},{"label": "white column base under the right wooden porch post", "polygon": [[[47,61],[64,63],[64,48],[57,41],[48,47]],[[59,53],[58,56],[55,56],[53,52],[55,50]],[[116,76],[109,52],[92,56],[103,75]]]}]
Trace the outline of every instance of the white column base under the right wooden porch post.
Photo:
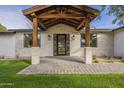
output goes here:
[{"label": "white column base under the right wooden porch post", "polygon": [[85,64],[92,64],[92,48],[91,47],[84,48],[84,62]]}]

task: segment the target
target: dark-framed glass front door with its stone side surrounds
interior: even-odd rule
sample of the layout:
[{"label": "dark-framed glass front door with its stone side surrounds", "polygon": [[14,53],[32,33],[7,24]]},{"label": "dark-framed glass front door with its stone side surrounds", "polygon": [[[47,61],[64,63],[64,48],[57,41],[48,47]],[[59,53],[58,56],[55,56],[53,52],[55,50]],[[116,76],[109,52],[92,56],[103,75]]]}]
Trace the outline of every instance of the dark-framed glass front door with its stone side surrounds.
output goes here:
[{"label": "dark-framed glass front door with its stone side surrounds", "polygon": [[53,35],[53,55],[69,56],[70,55],[70,35],[54,34]]}]

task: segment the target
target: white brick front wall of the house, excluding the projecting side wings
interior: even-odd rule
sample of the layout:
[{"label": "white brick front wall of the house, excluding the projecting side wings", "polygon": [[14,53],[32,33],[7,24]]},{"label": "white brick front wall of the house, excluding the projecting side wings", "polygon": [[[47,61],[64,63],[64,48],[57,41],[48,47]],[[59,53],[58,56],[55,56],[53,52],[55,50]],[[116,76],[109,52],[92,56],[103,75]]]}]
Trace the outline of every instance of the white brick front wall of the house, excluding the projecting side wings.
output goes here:
[{"label": "white brick front wall of the house, excluding the projecting side wings", "polygon": [[[16,52],[22,57],[31,56],[31,48],[24,48],[24,32],[16,33]],[[81,35],[79,31],[67,25],[59,24],[41,32],[41,56],[53,56],[53,34],[70,34],[70,56],[84,56],[84,48],[81,48]],[[48,35],[51,40],[48,40]],[[71,37],[75,35],[75,40]],[[97,34],[97,47],[92,48],[93,55],[113,56],[113,33],[103,32]]]}]

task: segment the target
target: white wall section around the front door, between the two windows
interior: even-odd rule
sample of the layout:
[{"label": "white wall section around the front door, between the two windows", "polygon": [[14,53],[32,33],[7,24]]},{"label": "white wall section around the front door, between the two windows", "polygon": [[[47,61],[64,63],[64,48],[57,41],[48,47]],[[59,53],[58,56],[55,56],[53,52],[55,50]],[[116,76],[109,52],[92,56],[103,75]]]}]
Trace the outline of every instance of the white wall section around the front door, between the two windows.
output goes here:
[{"label": "white wall section around the front door, between the two windows", "polygon": [[[47,31],[41,33],[41,49],[42,56],[53,56],[53,35],[54,34],[69,34],[70,35],[70,56],[80,56],[80,33],[74,28],[67,25],[59,24],[49,28]],[[51,36],[51,40],[48,40],[48,35]],[[75,40],[71,40],[71,37],[75,35]]]}]

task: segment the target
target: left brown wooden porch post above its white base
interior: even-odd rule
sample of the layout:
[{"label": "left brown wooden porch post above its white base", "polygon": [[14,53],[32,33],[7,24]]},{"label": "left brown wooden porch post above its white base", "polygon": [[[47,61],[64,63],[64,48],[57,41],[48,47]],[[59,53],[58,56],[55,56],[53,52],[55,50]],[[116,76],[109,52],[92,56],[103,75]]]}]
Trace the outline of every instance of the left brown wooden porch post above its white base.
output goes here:
[{"label": "left brown wooden porch post above its white base", "polygon": [[38,47],[38,19],[33,17],[33,47]]}]

